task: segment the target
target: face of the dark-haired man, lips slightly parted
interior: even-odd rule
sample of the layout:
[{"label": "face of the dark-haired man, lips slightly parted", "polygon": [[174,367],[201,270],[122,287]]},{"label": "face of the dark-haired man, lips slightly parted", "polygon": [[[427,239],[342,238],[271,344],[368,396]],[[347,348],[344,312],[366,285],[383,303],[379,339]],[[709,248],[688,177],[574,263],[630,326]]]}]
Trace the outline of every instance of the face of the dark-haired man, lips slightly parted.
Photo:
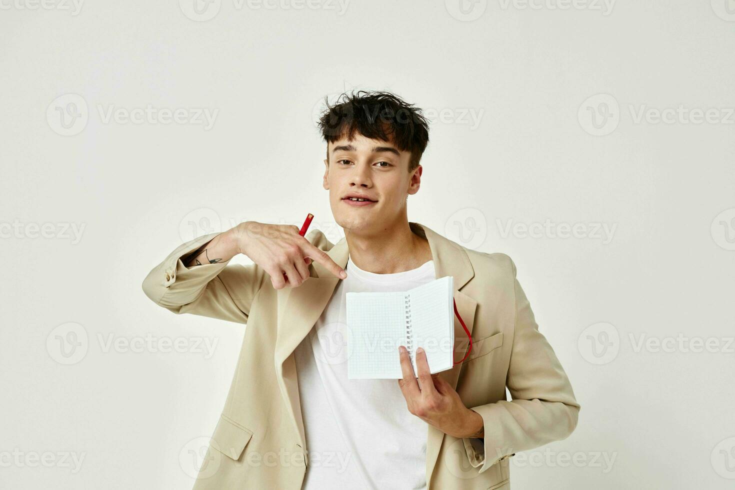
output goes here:
[{"label": "face of the dark-haired man, lips slightly parted", "polygon": [[[418,191],[422,171],[419,165],[409,173],[409,151],[358,133],[352,141],[343,137],[329,143],[327,149],[323,186],[329,190],[331,212],[340,226],[378,231],[405,219],[406,195]],[[347,199],[350,195],[365,196],[372,202],[351,201]]]}]

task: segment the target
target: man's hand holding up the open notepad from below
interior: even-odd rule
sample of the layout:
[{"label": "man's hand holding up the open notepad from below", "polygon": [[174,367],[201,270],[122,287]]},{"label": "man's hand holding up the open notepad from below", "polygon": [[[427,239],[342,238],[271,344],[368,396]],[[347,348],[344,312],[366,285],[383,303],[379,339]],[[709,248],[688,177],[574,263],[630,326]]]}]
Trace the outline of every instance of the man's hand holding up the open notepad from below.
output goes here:
[{"label": "man's hand holding up the open notepad from below", "polygon": [[459,394],[438,372],[431,374],[423,349],[419,347],[416,351],[418,378],[414,375],[406,347],[401,345],[398,351],[404,375],[398,380],[398,386],[406,398],[409,412],[450,436],[484,437],[481,415],[467,408],[459,398]]}]

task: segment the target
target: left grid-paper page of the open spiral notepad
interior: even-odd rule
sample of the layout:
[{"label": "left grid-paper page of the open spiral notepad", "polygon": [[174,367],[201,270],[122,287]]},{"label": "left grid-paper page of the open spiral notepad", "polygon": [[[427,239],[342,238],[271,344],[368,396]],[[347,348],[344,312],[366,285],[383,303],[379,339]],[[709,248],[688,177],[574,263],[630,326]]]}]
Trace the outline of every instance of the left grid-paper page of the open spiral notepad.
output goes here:
[{"label": "left grid-paper page of the open spiral notepad", "polygon": [[406,337],[405,292],[347,293],[347,378],[398,379]]}]

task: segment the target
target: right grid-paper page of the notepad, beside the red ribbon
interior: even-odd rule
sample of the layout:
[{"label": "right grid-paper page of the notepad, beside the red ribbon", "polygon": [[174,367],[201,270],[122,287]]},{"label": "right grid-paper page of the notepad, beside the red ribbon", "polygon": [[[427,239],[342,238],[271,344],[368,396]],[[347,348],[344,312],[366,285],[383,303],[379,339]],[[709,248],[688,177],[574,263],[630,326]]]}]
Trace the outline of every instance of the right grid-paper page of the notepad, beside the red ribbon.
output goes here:
[{"label": "right grid-paper page of the notepad, beside the red ribbon", "polygon": [[409,289],[415,375],[416,349],[423,347],[431,374],[454,366],[454,278],[451,275]]}]

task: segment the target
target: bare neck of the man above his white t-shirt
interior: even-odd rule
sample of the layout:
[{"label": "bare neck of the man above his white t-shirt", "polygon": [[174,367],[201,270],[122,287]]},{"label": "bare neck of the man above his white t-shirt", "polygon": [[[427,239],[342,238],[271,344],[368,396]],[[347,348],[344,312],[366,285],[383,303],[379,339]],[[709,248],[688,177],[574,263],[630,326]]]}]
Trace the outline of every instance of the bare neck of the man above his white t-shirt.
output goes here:
[{"label": "bare neck of the man above his white t-shirt", "polygon": [[411,231],[407,221],[373,235],[345,230],[345,239],[351,262],[370,273],[402,273],[432,259],[429,242]]}]

